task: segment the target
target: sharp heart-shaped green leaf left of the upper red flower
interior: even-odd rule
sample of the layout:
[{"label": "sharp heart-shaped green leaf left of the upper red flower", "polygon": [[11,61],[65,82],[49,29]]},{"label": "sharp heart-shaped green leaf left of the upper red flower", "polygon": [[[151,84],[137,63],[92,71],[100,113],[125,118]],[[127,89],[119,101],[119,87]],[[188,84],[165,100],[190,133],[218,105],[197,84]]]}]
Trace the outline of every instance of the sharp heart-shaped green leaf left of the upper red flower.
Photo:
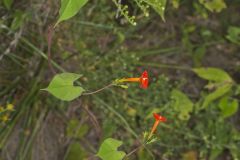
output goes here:
[{"label": "sharp heart-shaped green leaf left of the upper red flower", "polygon": [[75,73],[61,73],[54,76],[49,86],[46,89],[55,97],[64,100],[71,101],[79,97],[84,89],[79,86],[74,86],[73,82],[80,78],[81,75]]}]

